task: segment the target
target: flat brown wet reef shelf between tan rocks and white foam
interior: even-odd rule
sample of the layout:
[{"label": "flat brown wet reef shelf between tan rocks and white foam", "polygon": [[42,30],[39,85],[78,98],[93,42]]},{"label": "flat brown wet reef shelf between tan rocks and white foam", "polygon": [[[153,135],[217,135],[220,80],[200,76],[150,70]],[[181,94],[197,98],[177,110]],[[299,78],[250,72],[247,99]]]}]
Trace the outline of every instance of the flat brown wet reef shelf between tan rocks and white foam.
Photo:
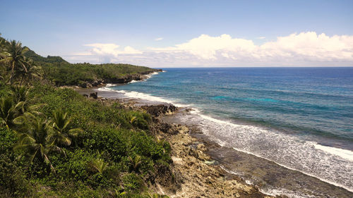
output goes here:
[{"label": "flat brown wet reef shelf between tan rocks and white foam", "polygon": [[[175,117],[177,116],[174,115],[174,118],[164,116],[163,120],[167,123],[183,124],[181,120]],[[344,187],[321,180],[321,178],[316,178],[313,175],[282,166],[275,161],[265,159],[256,154],[222,145],[215,142],[215,140],[211,139],[211,137],[205,135],[203,132],[200,132],[200,130],[191,132],[190,135],[199,142],[203,142],[207,145],[207,154],[210,155],[224,171],[237,175],[247,183],[258,187],[260,192],[265,194],[272,196],[285,194],[285,196],[288,197],[325,197],[328,194],[334,194],[335,197],[351,197],[352,195],[352,192],[349,192],[349,190]],[[237,171],[234,172],[233,170]],[[316,191],[307,191],[312,190],[308,188],[300,192],[297,191],[299,187],[296,188],[296,185],[299,185],[300,188],[313,185],[313,189]],[[291,186],[294,188],[287,188]]]}]

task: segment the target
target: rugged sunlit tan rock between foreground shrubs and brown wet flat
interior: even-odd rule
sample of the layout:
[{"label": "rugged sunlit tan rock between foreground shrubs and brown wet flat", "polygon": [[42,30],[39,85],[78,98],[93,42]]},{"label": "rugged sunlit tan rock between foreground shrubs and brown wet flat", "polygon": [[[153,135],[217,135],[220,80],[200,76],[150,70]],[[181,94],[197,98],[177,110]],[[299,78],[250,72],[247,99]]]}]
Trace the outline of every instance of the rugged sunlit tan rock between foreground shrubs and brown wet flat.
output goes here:
[{"label": "rugged sunlit tan rock between foreground shrubs and brown wet flat", "polygon": [[[164,127],[166,128],[166,127]],[[198,142],[189,135],[190,129],[184,125],[171,125],[171,130],[179,130],[176,135],[167,133],[167,140],[172,147],[172,172],[177,191],[167,190],[170,197],[265,197],[252,185],[234,175],[232,180],[225,180],[225,174],[217,161],[206,154],[205,142]],[[169,183],[165,183],[169,185]],[[162,185],[164,187],[164,185]],[[168,187],[168,186],[167,186]],[[166,190],[166,188],[164,188]],[[270,197],[270,196],[269,196]]]}]

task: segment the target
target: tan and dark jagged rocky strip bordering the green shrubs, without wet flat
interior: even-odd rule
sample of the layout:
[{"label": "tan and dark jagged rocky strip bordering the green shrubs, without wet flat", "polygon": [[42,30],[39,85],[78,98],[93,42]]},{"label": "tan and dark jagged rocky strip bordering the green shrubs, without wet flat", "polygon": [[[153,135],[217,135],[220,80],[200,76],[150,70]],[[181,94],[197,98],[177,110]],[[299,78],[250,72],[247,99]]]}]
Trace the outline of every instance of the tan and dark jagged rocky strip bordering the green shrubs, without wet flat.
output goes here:
[{"label": "tan and dark jagged rocky strip bordering the green shrubs, without wet flat", "polygon": [[[87,92],[92,89],[87,89]],[[83,93],[82,90],[80,92]],[[95,97],[91,97],[95,99]],[[152,116],[152,134],[172,147],[170,170],[158,170],[157,178],[149,179],[148,187],[169,197],[272,197],[261,193],[254,185],[247,184],[237,175],[227,173],[208,154],[208,147],[217,144],[199,140],[193,134],[197,126],[167,123],[165,116],[179,111],[172,104],[145,104],[135,99],[106,99],[98,101],[110,105],[119,102],[124,108],[145,111]],[[186,111],[188,111],[186,109]]]}]

